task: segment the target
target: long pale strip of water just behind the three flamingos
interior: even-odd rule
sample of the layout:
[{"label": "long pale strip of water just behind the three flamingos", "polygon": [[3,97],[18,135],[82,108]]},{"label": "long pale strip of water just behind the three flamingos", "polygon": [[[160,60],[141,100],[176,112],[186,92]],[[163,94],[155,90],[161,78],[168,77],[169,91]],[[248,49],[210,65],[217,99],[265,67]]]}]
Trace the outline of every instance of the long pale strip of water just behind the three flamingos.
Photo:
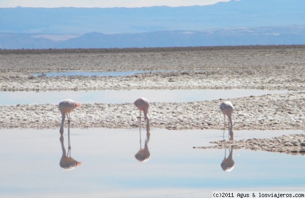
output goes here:
[{"label": "long pale strip of water just behind the three flamingos", "polygon": [[16,104],[57,104],[71,98],[83,104],[87,103],[133,103],[138,97],[146,97],[149,102],[179,103],[219,98],[235,98],[250,95],[287,93],[287,90],[256,89],[175,89],[175,90],[101,90],[101,91],[15,91],[0,92],[0,105]]}]

